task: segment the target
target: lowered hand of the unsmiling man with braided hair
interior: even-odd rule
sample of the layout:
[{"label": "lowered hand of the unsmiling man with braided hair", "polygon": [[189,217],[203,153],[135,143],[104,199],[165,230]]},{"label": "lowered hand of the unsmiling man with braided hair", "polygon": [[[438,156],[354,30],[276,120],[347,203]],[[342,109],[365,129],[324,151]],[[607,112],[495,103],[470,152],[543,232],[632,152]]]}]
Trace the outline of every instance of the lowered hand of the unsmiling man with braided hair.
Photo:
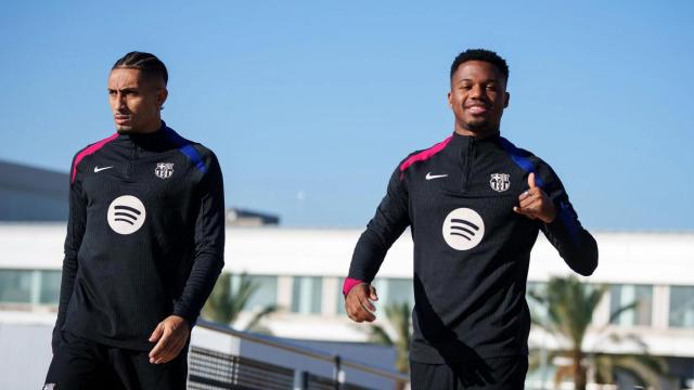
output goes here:
[{"label": "lowered hand of the unsmiling man with braided hair", "polygon": [[150,336],[150,342],[158,340],[150,351],[150,363],[162,364],[174,360],[185,346],[191,327],[188,322],[178,315],[169,315],[164,318]]}]

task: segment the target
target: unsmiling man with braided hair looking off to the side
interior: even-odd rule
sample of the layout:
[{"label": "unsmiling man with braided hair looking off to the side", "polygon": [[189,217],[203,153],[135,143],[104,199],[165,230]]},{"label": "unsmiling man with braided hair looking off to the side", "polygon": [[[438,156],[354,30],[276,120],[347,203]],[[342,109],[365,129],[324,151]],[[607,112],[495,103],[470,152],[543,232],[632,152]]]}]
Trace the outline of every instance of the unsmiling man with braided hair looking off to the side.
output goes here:
[{"label": "unsmiling man with braided hair looking off to the side", "polygon": [[162,120],[166,66],[108,76],[117,132],[75,155],[46,389],[184,389],[191,327],[223,266],[215,154]]}]

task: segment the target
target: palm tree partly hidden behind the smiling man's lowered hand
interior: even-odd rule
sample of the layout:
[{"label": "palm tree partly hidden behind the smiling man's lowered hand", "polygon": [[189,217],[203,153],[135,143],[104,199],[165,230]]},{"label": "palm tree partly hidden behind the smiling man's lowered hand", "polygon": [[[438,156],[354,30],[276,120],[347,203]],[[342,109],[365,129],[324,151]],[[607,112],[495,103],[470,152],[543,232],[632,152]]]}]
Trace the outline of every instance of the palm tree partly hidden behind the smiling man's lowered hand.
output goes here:
[{"label": "palm tree partly hidden behind the smiling man's lowered hand", "polygon": [[384,327],[372,325],[370,340],[395,347],[397,354],[396,369],[400,373],[408,373],[410,370],[410,339],[412,338],[410,330],[412,311],[410,310],[410,304],[408,302],[388,304],[385,307],[385,312],[391,330],[395,330],[395,337],[391,337]]}]

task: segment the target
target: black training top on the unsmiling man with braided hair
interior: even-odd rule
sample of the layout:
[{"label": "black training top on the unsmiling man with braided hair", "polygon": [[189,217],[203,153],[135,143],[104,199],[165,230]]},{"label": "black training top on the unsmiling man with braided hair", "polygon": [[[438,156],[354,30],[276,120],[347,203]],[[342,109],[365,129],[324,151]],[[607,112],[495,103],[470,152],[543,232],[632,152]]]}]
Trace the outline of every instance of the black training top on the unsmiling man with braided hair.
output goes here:
[{"label": "black training top on the unsmiling man with braided hair", "polygon": [[224,200],[217,157],[166,123],[75,156],[59,332],[147,351],[169,315],[191,326],[223,265]]}]

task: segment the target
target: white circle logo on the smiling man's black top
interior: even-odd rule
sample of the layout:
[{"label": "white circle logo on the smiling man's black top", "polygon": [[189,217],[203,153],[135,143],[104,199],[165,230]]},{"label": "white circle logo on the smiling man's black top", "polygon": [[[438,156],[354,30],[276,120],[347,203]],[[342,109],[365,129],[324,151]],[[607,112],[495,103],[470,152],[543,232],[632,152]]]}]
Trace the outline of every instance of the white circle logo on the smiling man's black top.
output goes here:
[{"label": "white circle logo on the smiling man's black top", "polygon": [[444,239],[455,250],[467,250],[476,247],[484,235],[485,221],[473,209],[455,209],[444,221]]}]

